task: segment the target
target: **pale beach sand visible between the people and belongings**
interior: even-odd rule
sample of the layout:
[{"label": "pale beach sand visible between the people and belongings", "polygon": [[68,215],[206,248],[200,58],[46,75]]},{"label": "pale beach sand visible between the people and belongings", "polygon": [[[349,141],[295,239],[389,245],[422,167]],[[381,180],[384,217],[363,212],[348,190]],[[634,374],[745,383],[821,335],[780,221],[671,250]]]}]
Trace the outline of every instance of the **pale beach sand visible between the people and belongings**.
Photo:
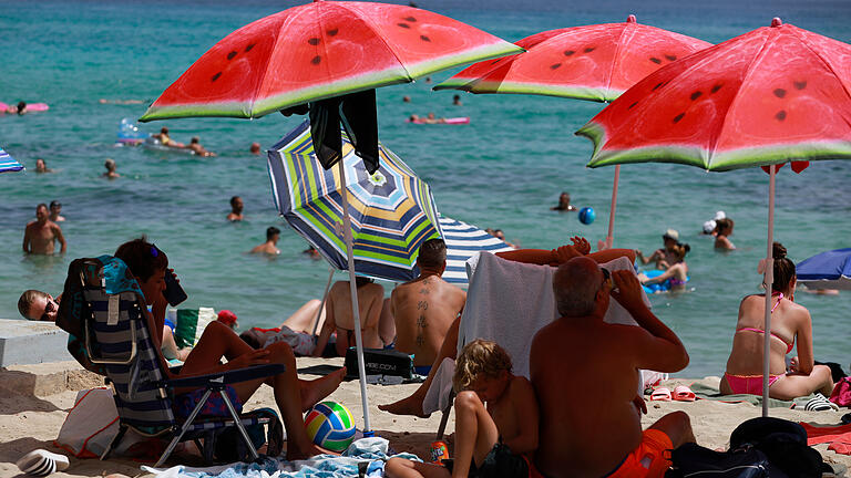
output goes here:
[{"label": "pale beach sand visible between the people and belongings", "polygon": [[[298,366],[303,368],[320,363],[341,364],[341,358],[298,358]],[[314,376],[301,375],[301,377],[311,380]],[[695,382],[712,385],[717,384],[718,378],[706,377],[700,381],[678,378],[671,380],[665,385],[673,388],[677,384],[687,385]],[[51,451],[61,451],[53,446],[53,439],[59,434],[68,409],[73,406],[76,391],[100,384],[102,384],[102,380],[99,376],[83,371],[72,362],[21,365],[0,371],[0,437],[2,437],[0,438],[0,476],[18,475],[19,471],[14,461],[32,449],[45,448]],[[390,446],[396,451],[410,451],[420,457],[428,457],[429,444],[433,440],[440,424],[440,414],[432,414],[427,419],[400,417],[383,413],[377,407],[378,404],[408,396],[416,387],[414,384],[369,385],[370,417],[377,434],[389,439]],[[584,393],[587,392],[593,391],[585,391]],[[578,389],[577,393],[580,393]],[[362,423],[359,394],[357,381],[344,382],[330,395],[329,399],[345,404],[356,419]],[[593,395],[589,396],[589,399],[593,399]],[[726,448],[730,432],[738,424],[760,415],[760,408],[750,404],[726,404],[707,399],[698,399],[694,403],[652,402],[647,405],[648,413],[643,419],[644,426],[654,423],[669,412],[686,412],[691,417],[691,425],[698,443],[709,448]],[[271,388],[262,387],[246,404],[246,409],[259,406],[275,406]],[[771,409],[771,416],[775,417],[822,425],[838,424],[840,417],[845,413],[845,409],[840,412]],[[453,417],[451,417],[447,429],[449,432],[454,429]],[[827,463],[841,464],[843,467],[851,466],[851,456],[838,455],[829,451],[827,447],[828,445],[814,447],[822,454]],[[184,455],[171,458],[168,461],[168,465],[176,464],[192,464],[192,457]],[[143,464],[117,458],[107,461],[71,458],[70,468],[53,476],[101,477],[110,474],[122,474],[130,477],[148,476],[142,472],[141,465]]]}]

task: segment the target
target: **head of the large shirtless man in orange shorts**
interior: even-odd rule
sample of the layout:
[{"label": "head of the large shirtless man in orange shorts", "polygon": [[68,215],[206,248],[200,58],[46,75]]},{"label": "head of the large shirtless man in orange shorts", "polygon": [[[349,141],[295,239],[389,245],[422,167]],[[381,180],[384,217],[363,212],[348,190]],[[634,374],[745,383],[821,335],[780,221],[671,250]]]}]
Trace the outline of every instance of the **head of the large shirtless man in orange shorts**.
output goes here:
[{"label": "head of the large shirtless man in orange shorts", "polygon": [[587,316],[594,312],[601,283],[588,280],[588,268],[570,260],[553,274],[555,305],[562,316]]}]

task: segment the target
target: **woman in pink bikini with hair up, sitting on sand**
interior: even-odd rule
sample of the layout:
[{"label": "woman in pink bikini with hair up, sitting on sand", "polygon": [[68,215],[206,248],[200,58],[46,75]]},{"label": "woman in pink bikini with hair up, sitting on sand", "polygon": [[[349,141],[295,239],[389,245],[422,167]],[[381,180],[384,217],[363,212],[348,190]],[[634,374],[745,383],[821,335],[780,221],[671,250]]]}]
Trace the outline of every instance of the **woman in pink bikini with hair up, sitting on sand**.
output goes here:
[{"label": "woman in pink bikini with hair up, sitting on sand", "polygon": [[[803,305],[794,303],[794,263],[786,248],[773,245],[775,282],[771,293],[771,355],[769,396],[792,399],[821,392],[830,396],[833,381],[830,368],[813,365],[812,320]],[[748,295],[739,305],[739,321],[732,335],[732,351],[721,378],[721,394],[762,393],[762,345],[765,341],[766,294]],[[786,355],[798,340],[798,356],[787,372]]]}]

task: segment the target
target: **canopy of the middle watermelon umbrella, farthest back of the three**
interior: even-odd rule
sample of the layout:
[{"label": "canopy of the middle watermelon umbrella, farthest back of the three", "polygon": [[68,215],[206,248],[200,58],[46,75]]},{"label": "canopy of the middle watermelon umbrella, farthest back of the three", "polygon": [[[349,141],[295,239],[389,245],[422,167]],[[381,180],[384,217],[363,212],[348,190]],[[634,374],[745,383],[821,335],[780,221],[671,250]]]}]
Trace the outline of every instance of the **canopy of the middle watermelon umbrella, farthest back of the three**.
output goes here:
[{"label": "canopy of the middle watermelon umbrella, farthest back of the three", "polygon": [[711,43],[639,24],[629,15],[623,23],[536,33],[516,45],[527,52],[476,63],[434,90],[612,101],[662,65]]}]

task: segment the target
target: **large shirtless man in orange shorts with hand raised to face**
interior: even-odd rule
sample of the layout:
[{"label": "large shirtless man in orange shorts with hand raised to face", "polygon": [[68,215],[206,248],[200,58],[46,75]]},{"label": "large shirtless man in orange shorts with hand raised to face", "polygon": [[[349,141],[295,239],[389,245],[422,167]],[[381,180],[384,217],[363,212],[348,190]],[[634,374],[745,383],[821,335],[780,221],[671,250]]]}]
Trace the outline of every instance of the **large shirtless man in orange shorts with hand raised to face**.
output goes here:
[{"label": "large shirtless man in orange shorts with hand raised to face", "polygon": [[[660,477],[670,466],[663,454],[695,441],[688,415],[674,412],[642,432],[644,398],[639,368],[677,372],[688,353],[642,300],[632,271],[612,277],[589,258],[558,267],[553,290],[562,318],[532,341],[530,375],[541,417],[537,469],[548,477]],[[608,324],[611,298],[638,326]],[[571,380],[562,380],[565,364]],[[575,384],[596,391],[594,399],[573,393]],[[575,392],[575,391],[574,391]]]}]

